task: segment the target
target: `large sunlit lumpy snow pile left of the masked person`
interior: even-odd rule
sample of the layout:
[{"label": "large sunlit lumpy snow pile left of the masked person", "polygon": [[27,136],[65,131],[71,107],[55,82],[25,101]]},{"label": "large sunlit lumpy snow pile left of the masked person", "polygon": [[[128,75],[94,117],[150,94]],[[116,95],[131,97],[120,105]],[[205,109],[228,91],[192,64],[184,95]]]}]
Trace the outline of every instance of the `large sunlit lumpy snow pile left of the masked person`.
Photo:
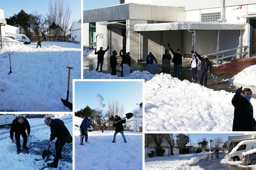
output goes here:
[{"label": "large sunlit lumpy snow pile left of the masked person", "polygon": [[[231,131],[233,96],[169,74],[156,75],[145,82],[145,130]],[[256,99],[251,103],[256,108]]]}]

